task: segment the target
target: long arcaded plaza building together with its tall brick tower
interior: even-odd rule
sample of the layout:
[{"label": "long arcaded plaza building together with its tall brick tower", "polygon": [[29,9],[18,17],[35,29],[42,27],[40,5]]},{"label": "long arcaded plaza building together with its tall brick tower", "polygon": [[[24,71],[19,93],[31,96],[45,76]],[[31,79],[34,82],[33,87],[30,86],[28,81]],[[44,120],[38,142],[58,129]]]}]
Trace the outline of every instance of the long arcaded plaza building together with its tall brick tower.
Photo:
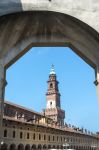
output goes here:
[{"label": "long arcaded plaza building together with its tall brick tower", "polygon": [[57,76],[52,67],[42,113],[4,102],[1,150],[99,150],[99,133],[64,122]]}]

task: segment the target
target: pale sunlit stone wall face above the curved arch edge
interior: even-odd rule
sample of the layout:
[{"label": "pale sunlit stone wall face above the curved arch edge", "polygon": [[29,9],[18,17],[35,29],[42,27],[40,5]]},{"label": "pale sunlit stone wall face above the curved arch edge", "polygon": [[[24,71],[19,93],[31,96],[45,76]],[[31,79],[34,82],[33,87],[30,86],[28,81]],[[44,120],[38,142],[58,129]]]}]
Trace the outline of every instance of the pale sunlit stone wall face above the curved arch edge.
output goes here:
[{"label": "pale sunlit stone wall face above the curved arch edge", "polygon": [[[6,3],[5,3],[6,2]],[[15,12],[22,11],[34,11],[34,10],[47,10],[47,11],[55,11],[55,12],[63,12],[64,14],[68,14],[79,20],[82,20],[98,30],[98,10],[99,10],[99,2],[98,1],[88,1],[87,6],[86,0],[75,1],[62,1],[57,0],[55,3],[51,2],[51,0],[41,0],[40,3],[36,1],[28,0],[25,1],[6,1],[3,0],[2,8],[0,9],[0,16],[4,14],[11,14]],[[8,7],[9,6],[9,7]],[[33,6],[33,7],[32,7]],[[82,15],[83,14],[83,15]],[[90,15],[91,14],[91,15]],[[86,17],[85,17],[86,16]],[[89,19],[90,17],[90,19]],[[99,30],[98,30],[99,31]]]}]

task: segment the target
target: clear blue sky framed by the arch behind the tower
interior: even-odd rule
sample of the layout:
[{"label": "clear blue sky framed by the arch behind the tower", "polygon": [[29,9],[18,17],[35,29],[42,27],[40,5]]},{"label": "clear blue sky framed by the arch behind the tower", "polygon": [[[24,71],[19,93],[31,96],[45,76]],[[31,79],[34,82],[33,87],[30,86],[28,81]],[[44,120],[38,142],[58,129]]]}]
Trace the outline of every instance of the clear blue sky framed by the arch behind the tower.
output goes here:
[{"label": "clear blue sky framed by the arch behind the tower", "polygon": [[66,47],[32,48],[7,70],[5,100],[41,112],[51,65],[60,82],[61,107],[67,123],[99,131],[94,70]]}]

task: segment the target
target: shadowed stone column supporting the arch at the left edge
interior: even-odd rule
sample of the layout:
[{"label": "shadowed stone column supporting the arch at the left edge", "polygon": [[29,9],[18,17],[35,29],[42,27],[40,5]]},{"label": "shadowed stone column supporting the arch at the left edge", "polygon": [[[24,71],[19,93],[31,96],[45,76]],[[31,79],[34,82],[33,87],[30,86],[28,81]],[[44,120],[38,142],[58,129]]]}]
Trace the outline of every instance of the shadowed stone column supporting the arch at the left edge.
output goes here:
[{"label": "shadowed stone column supporting the arch at the left edge", "polygon": [[2,143],[2,121],[3,121],[3,106],[4,106],[4,91],[5,91],[5,71],[2,61],[0,60],[0,146]]}]

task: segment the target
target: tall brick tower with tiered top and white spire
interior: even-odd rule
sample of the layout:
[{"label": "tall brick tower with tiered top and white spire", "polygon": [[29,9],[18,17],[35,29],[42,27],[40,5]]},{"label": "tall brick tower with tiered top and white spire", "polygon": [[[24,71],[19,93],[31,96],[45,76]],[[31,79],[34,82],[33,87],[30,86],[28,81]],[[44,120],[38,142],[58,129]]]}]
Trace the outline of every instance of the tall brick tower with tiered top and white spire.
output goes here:
[{"label": "tall brick tower with tiered top and white spire", "polygon": [[59,125],[63,125],[65,118],[65,111],[61,109],[61,102],[60,102],[61,95],[58,89],[59,82],[57,81],[57,76],[54,71],[53,65],[47,83],[48,83],[48,89],[46,93],[47,106],[45,109],[45,115],[52,118]]}]

